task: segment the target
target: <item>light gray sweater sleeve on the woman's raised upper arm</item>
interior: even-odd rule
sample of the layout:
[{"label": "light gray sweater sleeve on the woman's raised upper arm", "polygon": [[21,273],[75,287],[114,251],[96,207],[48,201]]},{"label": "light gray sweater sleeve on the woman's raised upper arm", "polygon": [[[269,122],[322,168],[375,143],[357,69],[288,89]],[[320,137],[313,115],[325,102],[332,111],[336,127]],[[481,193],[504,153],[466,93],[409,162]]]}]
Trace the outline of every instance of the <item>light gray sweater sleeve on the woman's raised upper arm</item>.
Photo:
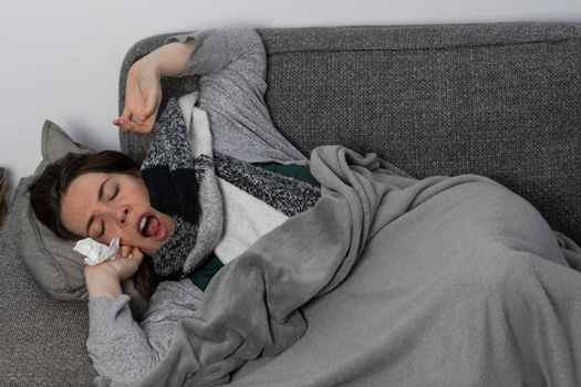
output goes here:
[{"label": "light gray sweater sleeve on the woman's raised upper arm", "polygon": [[249,28],[207,30],[169,38],[194,39],[194,52],[180,76],[200,75],[198,106],[210,122],[215,150],[243,161],[305,163],[274,127],[264,101],[267,53]]}]

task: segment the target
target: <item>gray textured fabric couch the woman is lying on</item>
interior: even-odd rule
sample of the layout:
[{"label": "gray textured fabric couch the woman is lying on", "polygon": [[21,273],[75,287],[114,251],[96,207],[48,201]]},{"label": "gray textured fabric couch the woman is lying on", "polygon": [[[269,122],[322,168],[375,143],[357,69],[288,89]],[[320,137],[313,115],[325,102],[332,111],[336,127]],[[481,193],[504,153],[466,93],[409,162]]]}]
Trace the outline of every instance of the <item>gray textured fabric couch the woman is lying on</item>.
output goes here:
[{"label": "gray textured fabric couch the woman is lying on", "polygon": [[[269,55],[267,103],[308,154],[339,143],[375,151],[411,175],[489,176],[581,243],[581,24],[259,30]],[[131,63],[163,42],[136,43]],[[195,88],[164,81],[164,95]],[[120,106],[121,108],[121,106]],[[121,134],[139,159],[147,138]],[[20,253],[21,181],[0,238],[0,385],[84,386],[86,304],[51,299]]]}]

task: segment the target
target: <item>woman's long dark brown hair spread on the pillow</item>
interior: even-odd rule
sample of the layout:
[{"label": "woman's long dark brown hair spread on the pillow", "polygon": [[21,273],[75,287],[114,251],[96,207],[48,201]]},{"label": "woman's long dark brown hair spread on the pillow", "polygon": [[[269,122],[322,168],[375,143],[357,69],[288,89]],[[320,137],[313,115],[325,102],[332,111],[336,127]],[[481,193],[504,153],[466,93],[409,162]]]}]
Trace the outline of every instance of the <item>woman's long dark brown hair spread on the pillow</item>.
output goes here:
[{"label": "woman's long dark brown hair spread on the pillow", "polygon": [[[72,181],[90,172],[125,174],[141,177],[139,164],[129,156],[115,150],[91,154],[70,153],[46,166],[34,178],[28,191],[30,205],[37,218],[56,237],[65,240],[79,240],[82,237],[68,230],[61,219],[61,201]],[[134,276],[134,285],[144,297],[151,297],[159,279],[153,270],[149,257],[145,257]]]}]

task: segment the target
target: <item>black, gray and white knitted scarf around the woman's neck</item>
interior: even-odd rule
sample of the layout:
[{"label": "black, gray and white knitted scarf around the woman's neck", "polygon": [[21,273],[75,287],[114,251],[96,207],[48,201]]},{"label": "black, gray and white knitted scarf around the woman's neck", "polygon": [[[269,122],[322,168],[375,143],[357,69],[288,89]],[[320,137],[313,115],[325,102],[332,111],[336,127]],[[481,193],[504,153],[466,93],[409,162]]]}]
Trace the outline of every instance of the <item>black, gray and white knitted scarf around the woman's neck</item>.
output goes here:
[{"label": "black, gray and white knitted scarf around the woman's neck", "polygon": [[174,233],[152,257],[163,279],[191,273],[218,244],[224,220],[218,177],[289,217],[312,207],[320,197],[318,187],[214,153],[207,116],[194,109],[201,119],[188,128],[178,102],[168,101],[142,164],[151,205],[175,221]]}]

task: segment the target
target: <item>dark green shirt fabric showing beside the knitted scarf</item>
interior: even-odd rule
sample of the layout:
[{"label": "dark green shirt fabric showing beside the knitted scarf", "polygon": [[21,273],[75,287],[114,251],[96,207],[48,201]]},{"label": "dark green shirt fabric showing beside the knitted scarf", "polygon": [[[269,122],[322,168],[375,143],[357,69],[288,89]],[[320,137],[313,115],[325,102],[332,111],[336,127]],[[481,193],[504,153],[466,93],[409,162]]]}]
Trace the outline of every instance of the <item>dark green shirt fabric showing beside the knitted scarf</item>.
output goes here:
[{"label": "dark green shirt fabric showing beside the knitted scarf", "polygon": [[[293,177],[301,181],[311,184],[313,186],[319,186],[319,181],[309,171],[308,166],[303,165],[282,165],[278,163],[253,163],[253,165],[271,170],[273,172]],[[224,263],[220,259],[212,252],[210,257],[204,262],[198,269],[194,271],[188,278],[189,280],[198,286],[203,292],[206,290],[210,283],[211,278],[224,266]]]}]

